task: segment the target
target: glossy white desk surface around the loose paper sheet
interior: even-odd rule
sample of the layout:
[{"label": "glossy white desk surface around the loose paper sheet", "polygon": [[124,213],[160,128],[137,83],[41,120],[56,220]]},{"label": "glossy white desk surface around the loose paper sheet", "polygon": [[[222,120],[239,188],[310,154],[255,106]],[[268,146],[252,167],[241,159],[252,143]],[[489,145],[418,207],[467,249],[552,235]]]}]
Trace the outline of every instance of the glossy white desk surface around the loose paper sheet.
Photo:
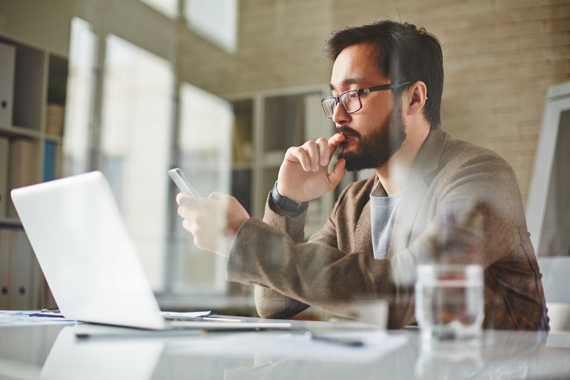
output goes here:
[{"label": "glossy white desk surface around the loose paper sheet", "polygon": [[[259,318],[240,318],[259,321]],[[354,322],[291,321],[316,333],[376,328]],[[567,379],[570,335],[485,332],[479,346],[458,344],[422,349],[417,330],[390,330],[404,336],[399,348],[367,362],[267,357],[261,353],[184,354],[185,346],[243,333],[203,336],[78,340],[82,325],[0,326],[0,379]],[[89,325],[89,328],[108,329]],[[249,333],[251,334],[251,333]],[[275,332],[255,332],[275,334]]]}]

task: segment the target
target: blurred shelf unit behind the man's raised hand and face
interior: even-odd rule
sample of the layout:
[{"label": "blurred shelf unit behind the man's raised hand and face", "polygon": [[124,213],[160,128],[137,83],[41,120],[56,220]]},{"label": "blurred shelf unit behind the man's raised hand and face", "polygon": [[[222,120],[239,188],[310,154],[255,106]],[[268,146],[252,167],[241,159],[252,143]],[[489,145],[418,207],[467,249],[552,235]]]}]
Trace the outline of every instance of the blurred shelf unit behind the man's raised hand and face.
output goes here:
[{"label": "blurred shelf unit behind the man's raised hand and face", "polygon": [[[232,193],[251,216],[263,218],[267,195],[286,150],[331,135],[334,124],[324,116],[320,105],[328,92],[327,86],[315,85],[226,96],[235,115]],[[243,141],[247,141],[251,155],[249,160],[239,161],[236,158],[243,155],[235,154],[235,149]],[[334,202],[334,191],[311,201],[305,239],[323,227]]]}]

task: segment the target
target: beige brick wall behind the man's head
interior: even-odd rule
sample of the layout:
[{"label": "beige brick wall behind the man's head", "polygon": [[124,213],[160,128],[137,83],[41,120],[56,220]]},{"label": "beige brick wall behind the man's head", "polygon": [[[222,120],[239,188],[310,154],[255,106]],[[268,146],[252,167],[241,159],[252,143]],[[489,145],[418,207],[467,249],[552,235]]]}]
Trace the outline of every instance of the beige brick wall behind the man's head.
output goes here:
[{"label": "beige brick wall behind the man's head", "polygon": [[337,27],[381,18],[439,38],[442,128],[504,157],[526,202],[546,89],[570,80],[568,0],[241,0],[238,51],[184,32],[181,78],[222,96],[327,84],[323,40]]}]

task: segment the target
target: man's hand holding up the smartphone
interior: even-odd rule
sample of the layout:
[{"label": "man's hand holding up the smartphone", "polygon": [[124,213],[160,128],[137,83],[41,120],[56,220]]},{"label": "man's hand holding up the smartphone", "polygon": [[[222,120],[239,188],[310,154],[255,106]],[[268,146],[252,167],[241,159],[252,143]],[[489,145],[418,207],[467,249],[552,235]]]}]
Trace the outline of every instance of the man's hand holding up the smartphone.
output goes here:
[{"label": "man's hand holding up the smartphone", "polygon": [[239,227],[250,216],[235,197],[214,191],[207,198],[178,193],[182,226],[194,235],[194,244],[227,257]]}]

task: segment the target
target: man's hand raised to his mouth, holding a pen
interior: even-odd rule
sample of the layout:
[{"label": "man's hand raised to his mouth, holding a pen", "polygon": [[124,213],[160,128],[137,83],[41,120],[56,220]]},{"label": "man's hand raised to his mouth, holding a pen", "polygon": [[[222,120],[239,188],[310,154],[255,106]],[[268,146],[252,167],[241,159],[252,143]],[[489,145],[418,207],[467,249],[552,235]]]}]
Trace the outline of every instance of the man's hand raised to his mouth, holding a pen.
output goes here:
[{"label": "man's hand raised to his mouth, holding a pen", "polygon": [[321,137],[287,149],[277,178],[279,194],[293,201],[307,202],[335,189],[346,174],[344,159],[336,163],[331,174],[328,174],[328,164],[345,138],[344,134],[336,133],[328,141]]}]

